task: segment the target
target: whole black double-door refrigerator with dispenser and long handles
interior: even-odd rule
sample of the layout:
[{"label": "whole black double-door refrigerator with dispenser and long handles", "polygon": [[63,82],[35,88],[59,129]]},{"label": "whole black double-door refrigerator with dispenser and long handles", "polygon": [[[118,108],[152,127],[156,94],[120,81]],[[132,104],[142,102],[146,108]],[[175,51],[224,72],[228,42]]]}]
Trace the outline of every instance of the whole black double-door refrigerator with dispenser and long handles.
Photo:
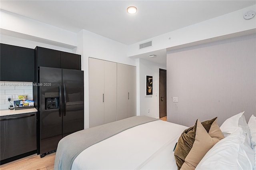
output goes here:
[{"label": "whole black double-door refrigerator with dispenser and long handles", "polygon": [[38,154],[57,149],[68,134],[84,129],[84,71],[39,67]]}]

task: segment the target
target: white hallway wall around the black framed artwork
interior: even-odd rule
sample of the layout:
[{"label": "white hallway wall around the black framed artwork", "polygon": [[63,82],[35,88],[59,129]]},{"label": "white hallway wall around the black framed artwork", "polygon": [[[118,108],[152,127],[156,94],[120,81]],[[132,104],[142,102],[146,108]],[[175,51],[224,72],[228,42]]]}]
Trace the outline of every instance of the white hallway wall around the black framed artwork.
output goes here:
[{"label": "white hallway wall around the black framed artwork", "polygon": [[[140,115],[159,118],[159,69],[166,69],[165,65],[140,60]],[[153,76],[153,95],[146,96],[146,75]],[[138,87],[138,86],[137,86]],[[148,109],[150,112],[148,113]]]}]

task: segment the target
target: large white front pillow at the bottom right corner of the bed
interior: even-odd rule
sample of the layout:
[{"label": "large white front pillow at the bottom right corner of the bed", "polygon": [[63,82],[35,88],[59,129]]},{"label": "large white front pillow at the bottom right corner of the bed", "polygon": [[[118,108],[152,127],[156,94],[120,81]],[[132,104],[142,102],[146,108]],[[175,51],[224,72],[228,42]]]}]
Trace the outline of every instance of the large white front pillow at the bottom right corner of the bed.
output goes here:
[{"label": "large white front pillow at the bottom right corner of the bed", "polygon": [[242,128],[216,143],[196,166],[197,170],[251,170],[254,151],[246,141]]}]

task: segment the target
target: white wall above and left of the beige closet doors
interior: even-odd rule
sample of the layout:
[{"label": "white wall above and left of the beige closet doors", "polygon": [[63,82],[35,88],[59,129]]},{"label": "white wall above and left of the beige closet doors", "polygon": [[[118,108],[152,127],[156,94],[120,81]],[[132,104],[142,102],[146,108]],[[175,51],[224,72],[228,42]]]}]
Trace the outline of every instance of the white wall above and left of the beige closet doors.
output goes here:
[{"label": "white wall above and left of the beige closet doors", "polygon": [[[78,50],[82,51],[82,65],[84,68],[84,102],[85,102],[85,115],[84,122],[85,128],[89,128],[89,57],[103,59],[107,61],[113,61],[117,63],[123,63],[136,66],[136,60],[127,57],[126,45],[110,40],[98,34],[94,34],[87,30],[79,32],[80,36],[83,36],[83,40],[78,43]],[[138,95],[138,94],[137,94]],[[139,101],[137,101],[139,105]]]}]

